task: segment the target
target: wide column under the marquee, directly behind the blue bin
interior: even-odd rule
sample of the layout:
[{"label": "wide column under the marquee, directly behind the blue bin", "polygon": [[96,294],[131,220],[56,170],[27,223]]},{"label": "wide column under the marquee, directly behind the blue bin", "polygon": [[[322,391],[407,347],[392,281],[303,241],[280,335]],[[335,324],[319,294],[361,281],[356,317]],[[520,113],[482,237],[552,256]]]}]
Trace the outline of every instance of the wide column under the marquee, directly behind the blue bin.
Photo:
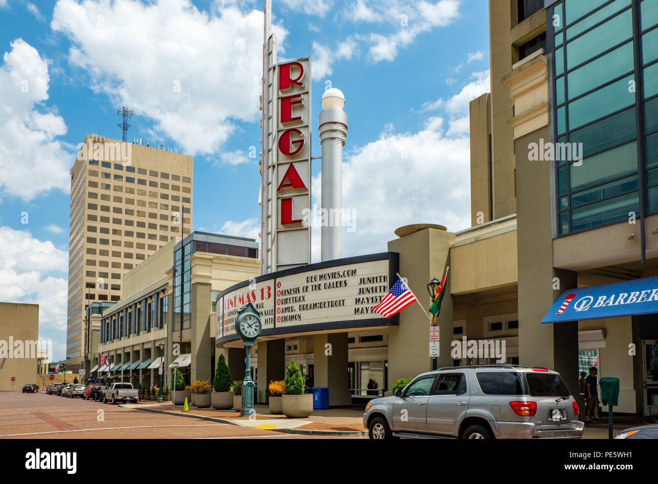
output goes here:
[{"label": "wide column under the marquee, directly behind the blue bin", "polygon": [[314,386],[329,389],[329,406],[351,406],[352,395],[347,374],[347,333],[315,335],[313,352]]}]

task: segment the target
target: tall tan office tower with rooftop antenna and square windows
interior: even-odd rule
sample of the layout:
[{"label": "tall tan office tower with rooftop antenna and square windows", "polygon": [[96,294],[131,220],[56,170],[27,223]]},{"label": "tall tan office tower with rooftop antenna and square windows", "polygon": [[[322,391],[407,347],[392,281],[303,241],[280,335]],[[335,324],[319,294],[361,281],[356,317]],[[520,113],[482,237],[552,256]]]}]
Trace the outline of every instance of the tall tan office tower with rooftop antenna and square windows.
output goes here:
[{"label": "tall tan office tower with rooftop antenna and square windows", "polygon": [[89,371],[89,302],[117,302],[122,278],[190,233],[193,160],[89,134],[71,169],[66,369]]}]

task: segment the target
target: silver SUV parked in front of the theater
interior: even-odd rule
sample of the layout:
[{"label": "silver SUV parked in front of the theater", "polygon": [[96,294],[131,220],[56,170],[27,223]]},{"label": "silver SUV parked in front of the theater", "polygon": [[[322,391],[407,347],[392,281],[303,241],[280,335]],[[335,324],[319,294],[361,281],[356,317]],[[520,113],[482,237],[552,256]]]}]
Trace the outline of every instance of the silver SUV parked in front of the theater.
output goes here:
[{"label": "silver SUV parked in front of the theater", "polygon": [[578,404],[559,373],[517,365],[474,365],[422,373],[395,396],[370,400],[370,439],[580,439]]}]

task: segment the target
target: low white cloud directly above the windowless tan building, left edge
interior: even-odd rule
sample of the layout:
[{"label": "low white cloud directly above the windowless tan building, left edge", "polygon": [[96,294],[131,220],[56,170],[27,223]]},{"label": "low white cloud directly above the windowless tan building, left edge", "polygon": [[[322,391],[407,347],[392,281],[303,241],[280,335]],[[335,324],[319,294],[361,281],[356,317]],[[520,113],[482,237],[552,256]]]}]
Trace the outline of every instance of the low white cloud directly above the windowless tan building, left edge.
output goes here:
[{"label": "low white cloud directly above the windowless tan building, left edge", "polygon": [[27,230],[0,227],[0,300],[39,304],[39,327],[66,329],[68,252]]}]

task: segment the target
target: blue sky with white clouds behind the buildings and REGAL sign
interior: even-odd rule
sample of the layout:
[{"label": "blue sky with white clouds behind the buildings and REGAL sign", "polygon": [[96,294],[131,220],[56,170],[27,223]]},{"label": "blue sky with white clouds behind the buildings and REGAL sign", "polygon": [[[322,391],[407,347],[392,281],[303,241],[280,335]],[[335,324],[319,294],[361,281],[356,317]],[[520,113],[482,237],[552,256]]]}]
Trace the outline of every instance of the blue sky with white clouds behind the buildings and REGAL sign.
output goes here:
[{"label": "blue sky with white clouds behind the buildings and REGAL sign", "polygon": [[[468,103],[490,90],[486,0],[272,0],[278,61],[311,57],[349,117],[343,256],[470,226]],[[0,301],[65,358],[69,170],[86,134],[194,157],[192,229],[258,238],[262,0],[0,0]],[[313,157],[320,156],[319,138]],[[320,161],[312,165],[320,205]],[[320,259],[320,230],[312,258]]]}]

